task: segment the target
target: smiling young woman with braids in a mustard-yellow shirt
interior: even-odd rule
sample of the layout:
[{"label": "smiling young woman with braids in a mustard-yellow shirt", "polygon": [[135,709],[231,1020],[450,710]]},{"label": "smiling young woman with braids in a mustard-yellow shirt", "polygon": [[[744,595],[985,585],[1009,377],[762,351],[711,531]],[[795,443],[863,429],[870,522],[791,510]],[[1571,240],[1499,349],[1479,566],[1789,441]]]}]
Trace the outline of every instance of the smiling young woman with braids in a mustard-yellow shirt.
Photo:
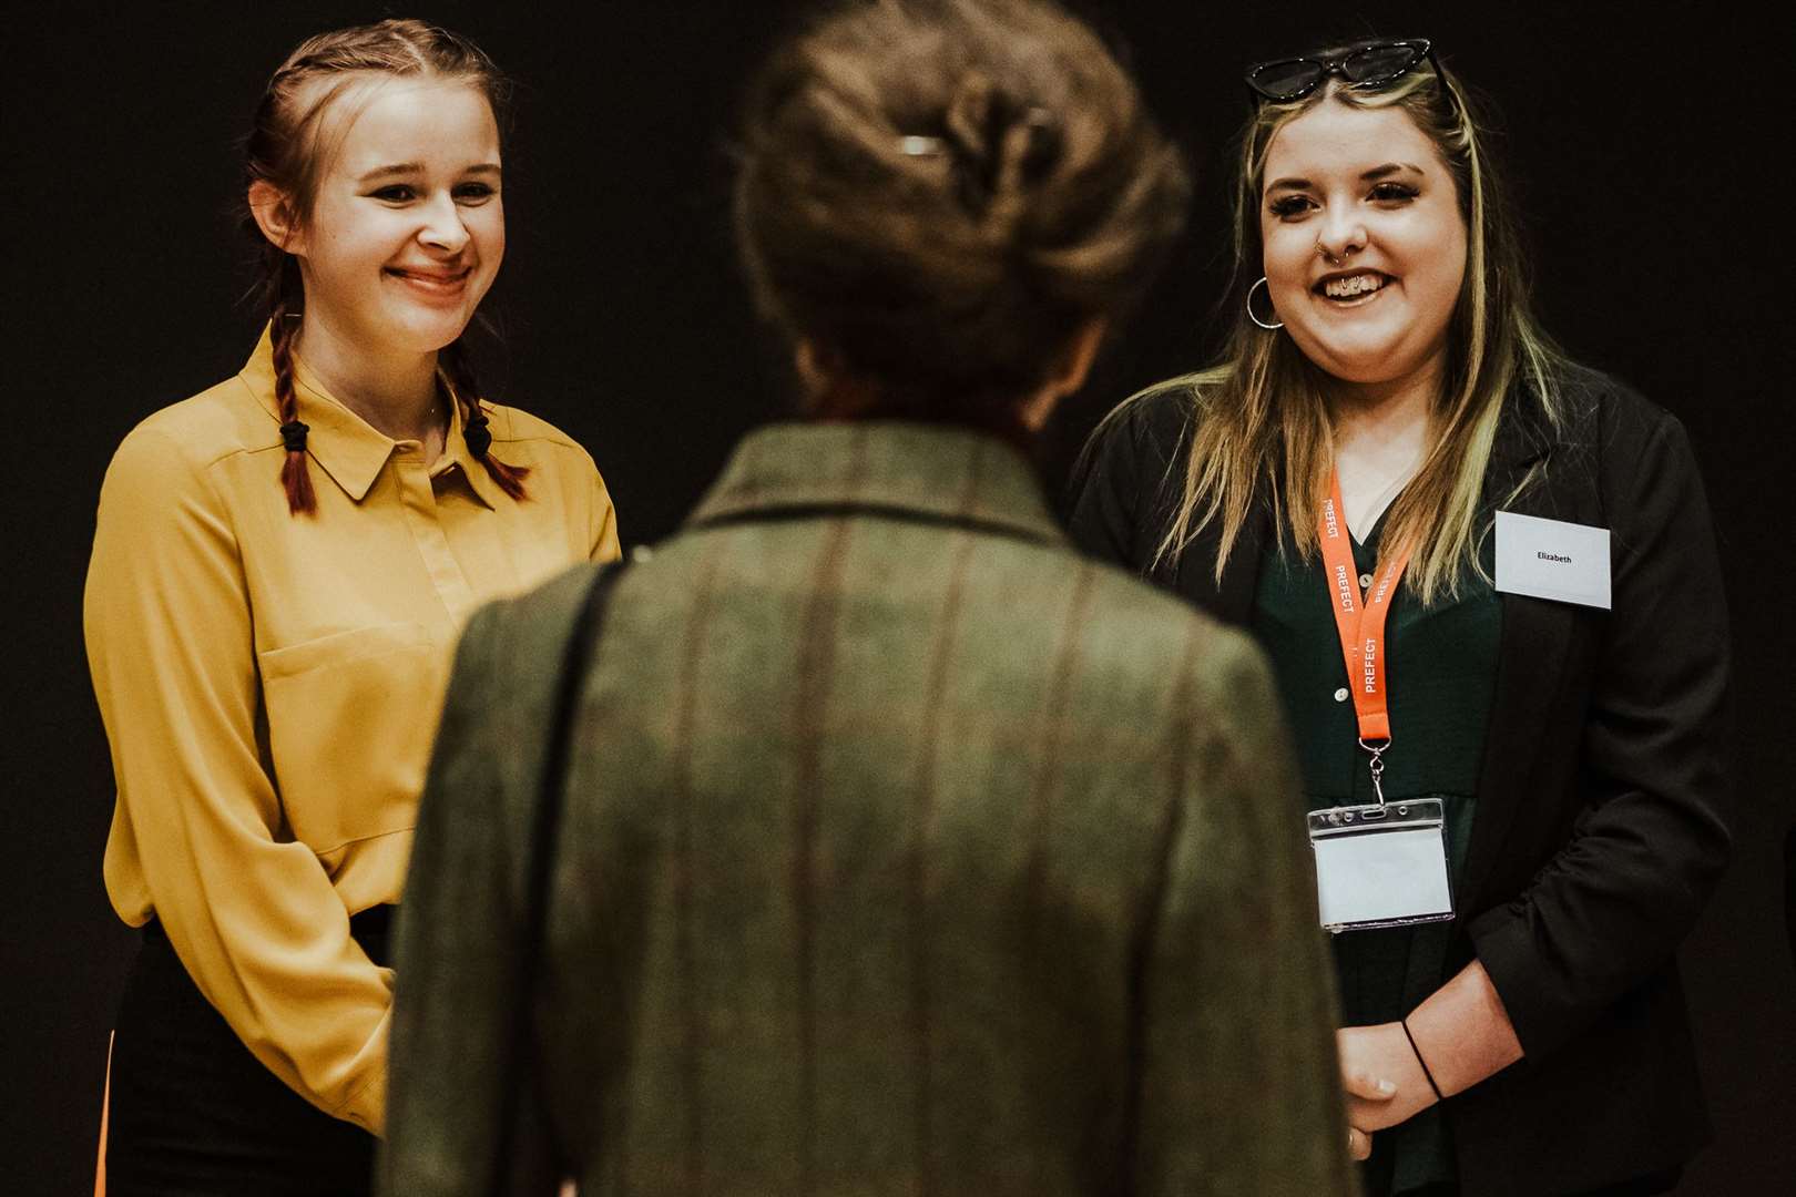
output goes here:
[{"label": "smiling young woman with braids in a mustard-yellow shirt", "polygon": [[456,630],[618,553],[591,458],[481,402],[462,348],[505,253],[503,99],[480,48],[420,22],[300,45],[246,147],[268,332],[106,474],[106,887],[144,926],[113,1197],[366,1192],[386,915]]}]

